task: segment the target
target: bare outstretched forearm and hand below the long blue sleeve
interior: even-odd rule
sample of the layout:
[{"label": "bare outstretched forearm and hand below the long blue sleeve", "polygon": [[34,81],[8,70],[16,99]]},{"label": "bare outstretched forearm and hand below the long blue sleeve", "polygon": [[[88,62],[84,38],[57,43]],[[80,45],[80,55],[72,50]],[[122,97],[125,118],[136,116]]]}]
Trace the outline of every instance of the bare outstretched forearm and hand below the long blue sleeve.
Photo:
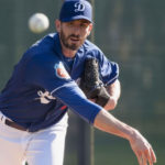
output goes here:
[{"label": "bare outstretched forearm and hand below the long blue sleeve", "polygon": [[138,157],[139,165],[156,163],[155,153],[146,139],[138,130],[119,121],[106,110],[97,114],[94,125],[99,130],[127,139]]}]

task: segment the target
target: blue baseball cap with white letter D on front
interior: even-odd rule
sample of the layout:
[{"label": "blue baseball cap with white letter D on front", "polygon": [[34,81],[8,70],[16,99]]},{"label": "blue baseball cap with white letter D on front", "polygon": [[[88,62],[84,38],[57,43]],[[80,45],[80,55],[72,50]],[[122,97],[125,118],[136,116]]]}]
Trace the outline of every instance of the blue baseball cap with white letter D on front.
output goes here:
[{"label": "blue baseball cap with white letter D on front", "polygon": [[92,22],[91,4],[87,0],[65,0],[59,12],[59,20],[69,22],[79,19]]}]

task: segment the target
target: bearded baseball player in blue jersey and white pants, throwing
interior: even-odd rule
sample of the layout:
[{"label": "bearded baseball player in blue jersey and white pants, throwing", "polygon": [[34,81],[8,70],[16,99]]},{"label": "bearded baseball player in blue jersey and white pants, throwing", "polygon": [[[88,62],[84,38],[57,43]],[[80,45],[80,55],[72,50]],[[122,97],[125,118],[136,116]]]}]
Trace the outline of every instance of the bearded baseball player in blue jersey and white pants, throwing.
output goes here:
[{"label": "bearded baseball player in blue jersey and white pants, throwing", "polygon": [[[127,139],[140,165],[156,162],[142,134],[107,112],[120,96],[119,68],[87,40],[91,13],[86,0],[64,1],[57,33],[33,44],[14,67],[0,95],[0,165],[63,165],[68,108],[95,128]],[[79,86],[88,59],[95,59],[99,78],[87,96]]]}]

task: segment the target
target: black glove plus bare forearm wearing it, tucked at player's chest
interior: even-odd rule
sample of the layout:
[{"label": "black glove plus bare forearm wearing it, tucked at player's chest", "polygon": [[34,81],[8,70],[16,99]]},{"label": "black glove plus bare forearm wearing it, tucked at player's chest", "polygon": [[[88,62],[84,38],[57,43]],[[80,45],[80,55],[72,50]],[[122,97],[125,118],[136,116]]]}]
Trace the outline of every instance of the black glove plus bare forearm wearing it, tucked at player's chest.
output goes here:
[{"label": "black glove plus bare forearm wearing it, tucked at player's chest", "polygon": [[96,58],[87,58],[85,72],[80,80],[80,88],[88,99],[95,101],[107,110],[116,108],[120,97],[120,82],[116,80],[112,85],[105,87],[99,78],[99,65]]}]

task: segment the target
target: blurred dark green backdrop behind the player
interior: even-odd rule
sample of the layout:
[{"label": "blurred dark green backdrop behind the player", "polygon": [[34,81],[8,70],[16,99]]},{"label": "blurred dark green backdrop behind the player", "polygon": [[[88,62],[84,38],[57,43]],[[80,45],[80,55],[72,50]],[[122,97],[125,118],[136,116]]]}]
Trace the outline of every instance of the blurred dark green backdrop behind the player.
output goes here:
[{"label": "blurred dark green backdrop behind the player", "polygon": [[[55,32],[63,0],[0,0],[0,89],[13,66],[36,40]],[[157,165],[165,164],[165,1],[92,0],[95,43],[120,66],[122,95],[112,112],[152,143]],[[35,12],[45,13],[50,29],[33,34],[28,28]],[[81,150],[91,133],[95,165],[138,165],[128,141],[98,130],[81,131],[84,121],[70,113],[64,165],[80,165]],[[91,139],[91,136],[89,136]],[[90,140],[87,142],[90,145]],[[90,146],[89,146],[90,148]],[[91,151],[92,151],[91,150]],[[86,165],[84,163],[82,165]]]}]

